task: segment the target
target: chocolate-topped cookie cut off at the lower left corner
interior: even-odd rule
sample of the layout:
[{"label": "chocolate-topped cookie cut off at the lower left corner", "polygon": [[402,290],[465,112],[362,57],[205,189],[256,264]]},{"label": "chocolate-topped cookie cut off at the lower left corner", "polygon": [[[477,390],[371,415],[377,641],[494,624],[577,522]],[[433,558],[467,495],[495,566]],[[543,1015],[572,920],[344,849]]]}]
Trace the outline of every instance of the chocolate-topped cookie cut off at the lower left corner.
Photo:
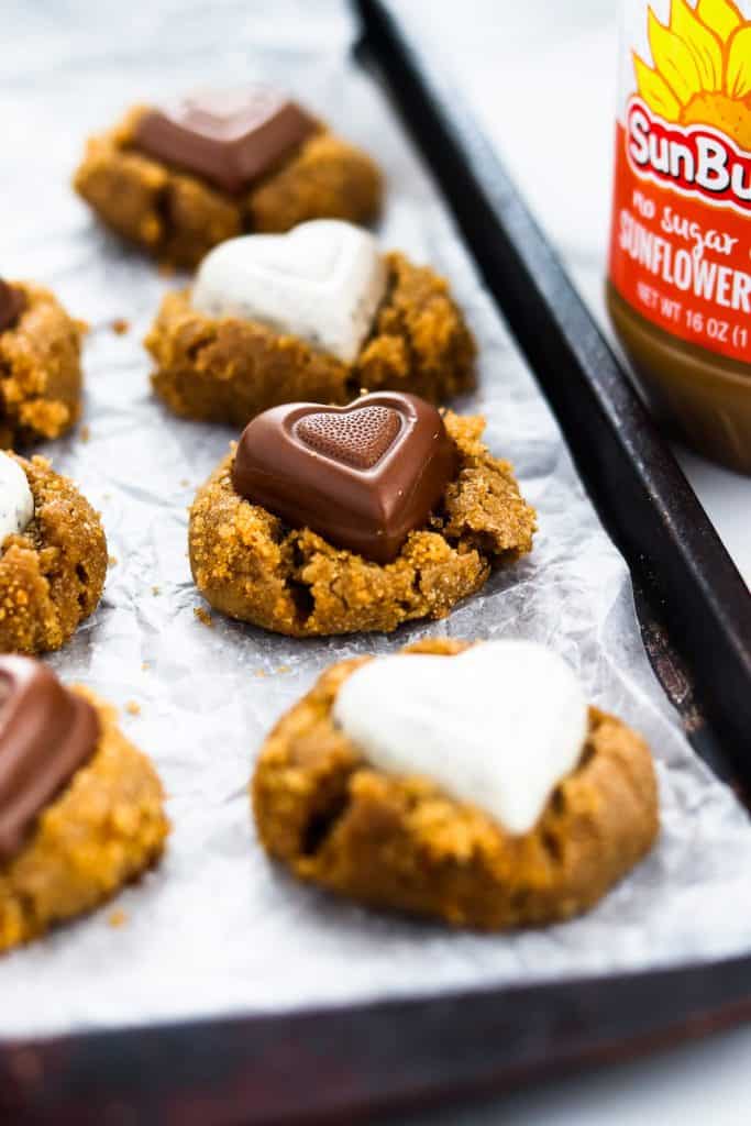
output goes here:
[{"label": "chocolate-topped cookie cut off at the lower left corner", "polygon": [[38,661],[0,658],[0,953],[106,902],[161,856],[149,759],[113,708]]}]

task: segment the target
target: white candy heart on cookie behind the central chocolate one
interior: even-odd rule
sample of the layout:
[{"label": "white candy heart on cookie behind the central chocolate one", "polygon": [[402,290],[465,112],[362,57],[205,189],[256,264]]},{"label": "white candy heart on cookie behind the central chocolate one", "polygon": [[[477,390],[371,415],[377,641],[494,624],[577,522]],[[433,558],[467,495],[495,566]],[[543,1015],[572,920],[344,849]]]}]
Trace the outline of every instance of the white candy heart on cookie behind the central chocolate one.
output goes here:
[{"label": "white candy heart on cookie behind the central chocolate one", "polygon": [[315,220],[288,234],[229,239],[204,258],[191,302],[299,337],[350,364],[383,300],[386,266],[372,234]]}]

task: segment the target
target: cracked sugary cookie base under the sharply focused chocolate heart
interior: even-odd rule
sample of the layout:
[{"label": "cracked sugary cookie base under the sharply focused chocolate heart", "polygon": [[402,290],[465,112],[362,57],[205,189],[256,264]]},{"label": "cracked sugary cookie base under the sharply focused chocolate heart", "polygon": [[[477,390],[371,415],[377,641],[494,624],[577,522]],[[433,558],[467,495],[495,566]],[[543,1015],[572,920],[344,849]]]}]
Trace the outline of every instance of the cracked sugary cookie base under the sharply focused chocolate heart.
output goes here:
[{"label": "cracked sugary cookie base under the sharply focused chocolate heart", "polygon": [[[354,408],[378,404],[387,412],[394,409],[394,400],[413,396],[383,397],[387,405],[381,395],[366,395]],[[293,421],[299,419],[301,405],[307,415],[324,410],[315,404],[289,406]],[[190,510],[190,565],[196,586],[211,606],[230,617],[295,637],[390,632],[404,622],[445,617],[484,584],[493,568],[529,552],[535,511],[521,498],[508,462],[492,457],[480,440],[483,420],[449,412],[441,421],[435,408],[429,409],[437,420],[436,435],[445,425],[455,468],[438,501],[387,563],[334,544],[311,527],[292,527],[275,512],[244,499],[233,484],[235,453],[231,452],[198,490]],[[409,408],[405,412],[409,414]],[[260,415],[251,426],[261,425],[262,419]],[[400,427],[405,426],[403,420],[404,414]],[[367,438],[367,429],[363,432]],[[299,440],[307,444],[305,437]],[[400,438],[382,456],[409,458],[413,448]],[[316,475],[327,461],[337,462],[337,453],[316,450],[313,445],[309,475],[299,489],[309,498],[320,495],[322,509],[332,506],[338,489],[336,483],[327,485],[331,490],[328,495],[319,490]],[[360,472],[368,477],[374,471],[381,473],[378,463]],[[341,461],[332,472],[341,474]],[[331,482],[330,475],[327,481]],[[338,510],[345,513],[360,503],[345,500],[342,508],[341,498],[337,498]],[[361,503],[370,502],[372,494],[365,490]],[[374,503],[378,509],[377,490]],[[394,513],[400,516],[392,507],[386,516],[391,519]],[[342,517],[345,528],[351,524],[350,516]]]}]

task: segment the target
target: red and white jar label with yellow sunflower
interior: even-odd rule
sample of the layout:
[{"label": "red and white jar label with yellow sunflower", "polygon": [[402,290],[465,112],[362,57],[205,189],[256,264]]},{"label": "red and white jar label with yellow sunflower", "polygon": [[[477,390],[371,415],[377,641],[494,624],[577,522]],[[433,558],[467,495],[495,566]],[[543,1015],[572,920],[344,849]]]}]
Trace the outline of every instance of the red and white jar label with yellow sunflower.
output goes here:
[{"label": "red and white jar label with yellow sunflower", "polygon": [[649,321],[751,360],[751,3],[627,2],[610,280]]}]

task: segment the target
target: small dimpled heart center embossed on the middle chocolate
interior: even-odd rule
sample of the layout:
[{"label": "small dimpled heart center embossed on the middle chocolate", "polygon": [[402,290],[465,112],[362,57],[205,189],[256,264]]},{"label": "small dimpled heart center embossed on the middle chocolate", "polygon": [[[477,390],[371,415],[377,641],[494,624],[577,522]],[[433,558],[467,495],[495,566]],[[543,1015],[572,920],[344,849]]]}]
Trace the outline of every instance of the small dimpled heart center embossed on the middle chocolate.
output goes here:
[{"label": "small dimpled heart center embossed on the middle chocolate", "polygon": [[377,465],[400,430],[399,414],[390,406],[361,406],[347,414],[319,411],[304,415],[295,427],[311,449],[354,470]]}]

